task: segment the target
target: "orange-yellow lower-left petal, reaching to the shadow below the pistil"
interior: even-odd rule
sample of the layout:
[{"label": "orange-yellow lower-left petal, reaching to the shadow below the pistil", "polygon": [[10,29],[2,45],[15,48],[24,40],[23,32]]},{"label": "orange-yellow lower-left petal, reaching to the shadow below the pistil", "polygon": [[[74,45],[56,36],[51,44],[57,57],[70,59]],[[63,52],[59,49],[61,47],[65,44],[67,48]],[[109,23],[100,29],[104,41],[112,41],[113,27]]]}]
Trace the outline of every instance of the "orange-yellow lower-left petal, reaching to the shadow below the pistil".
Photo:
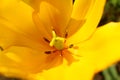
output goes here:
[{"label": "orange-yellow lower-left petal, reaching to the shadow below the pistil", "polygon": [[8,77],[29,78],[30,75],[51,69],[62,63],[62,57],[45,54],[47,49],[11,46],[0,52],[0,73]]}]

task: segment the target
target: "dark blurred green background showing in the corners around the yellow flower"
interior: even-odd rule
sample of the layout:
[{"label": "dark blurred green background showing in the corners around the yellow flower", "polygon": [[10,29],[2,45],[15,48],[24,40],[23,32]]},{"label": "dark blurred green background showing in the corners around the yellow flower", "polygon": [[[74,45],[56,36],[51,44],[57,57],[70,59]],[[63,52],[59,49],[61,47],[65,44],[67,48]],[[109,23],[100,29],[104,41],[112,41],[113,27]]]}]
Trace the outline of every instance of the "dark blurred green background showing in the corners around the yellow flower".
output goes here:
[{"label": "dark blurred green background showing in the corners around the yellow flower", "polygon": [[[23,0],[29,2],[29,0]],[[73,0],[74,1],[74,0]],[[102,19],[99,26],[108,22],[120,21],[120,0],[107,0]],[[8,78],[0,75],[0,80],[21,80],[19,78]],[[108,69],[97,73],[93,80],[120,80],[120,62],[112,65]]]}]

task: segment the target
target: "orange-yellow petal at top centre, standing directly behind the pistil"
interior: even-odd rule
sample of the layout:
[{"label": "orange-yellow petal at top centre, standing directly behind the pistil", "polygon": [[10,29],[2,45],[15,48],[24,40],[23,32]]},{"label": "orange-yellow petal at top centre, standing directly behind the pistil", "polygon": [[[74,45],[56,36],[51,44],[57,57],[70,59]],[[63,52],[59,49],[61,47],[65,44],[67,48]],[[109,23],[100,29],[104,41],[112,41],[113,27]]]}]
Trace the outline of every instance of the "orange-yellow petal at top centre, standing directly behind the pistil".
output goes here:
[{"label": "orange-yellow petal at top centre, standing directly behind the pistil", "polygon": [[72,0],[32,0],[31,4],[35,10],[40,8],[39,15],[44,25],[62,35],[71,16]]}]

